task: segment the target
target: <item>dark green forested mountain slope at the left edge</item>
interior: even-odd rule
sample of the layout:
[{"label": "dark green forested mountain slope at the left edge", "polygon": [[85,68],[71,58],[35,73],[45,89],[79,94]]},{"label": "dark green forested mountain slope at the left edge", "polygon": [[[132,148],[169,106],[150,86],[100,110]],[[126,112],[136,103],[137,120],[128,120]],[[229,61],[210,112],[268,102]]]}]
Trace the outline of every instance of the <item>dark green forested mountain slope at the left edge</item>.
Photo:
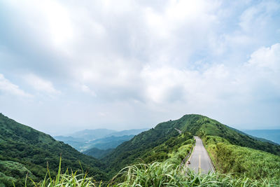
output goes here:
[{"label": "dark green forested mountain slope at the left edge", "polygon": [[12,179],[16,186],[24,186],[27,172],[39,181],[45,177],[47,165],[51,174],[57,171],[60,156],[62,171],[83,167],[95,179],[107,179],[101,170],[105,165],[99,160],[0,113],[0,184]]}]

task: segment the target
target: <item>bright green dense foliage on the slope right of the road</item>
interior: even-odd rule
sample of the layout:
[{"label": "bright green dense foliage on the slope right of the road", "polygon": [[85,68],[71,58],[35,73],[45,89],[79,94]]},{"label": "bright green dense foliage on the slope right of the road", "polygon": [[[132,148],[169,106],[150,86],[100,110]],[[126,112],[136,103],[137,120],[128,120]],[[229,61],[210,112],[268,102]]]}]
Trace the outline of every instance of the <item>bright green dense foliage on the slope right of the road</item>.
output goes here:
[{"label": "bright green dense foliage on the slope right of the road", "polygon": [[265,151],[230,144],[221,137],[204,138],[218,172],[235,173],[251,179],[278,179],[280,183],[280,157]]}]

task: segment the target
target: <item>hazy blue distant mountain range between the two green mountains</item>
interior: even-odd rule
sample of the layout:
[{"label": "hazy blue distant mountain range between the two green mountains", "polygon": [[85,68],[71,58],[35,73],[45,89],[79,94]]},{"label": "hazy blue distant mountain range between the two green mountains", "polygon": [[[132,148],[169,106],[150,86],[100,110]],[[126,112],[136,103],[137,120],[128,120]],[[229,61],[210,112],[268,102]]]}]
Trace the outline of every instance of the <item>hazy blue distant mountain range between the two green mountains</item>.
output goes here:
[{"label": "hazy blue distant mountain range between the two green mountains", "polygon": [[70,134],[69,136],[56,136],[58,141],[69,144],[78,151],[87,151],[90,148],[99,148],[101,150],[116,148],[124,141],[132,139],[135,135],[148,129],[132,129],[132,130],[82,130]]}]

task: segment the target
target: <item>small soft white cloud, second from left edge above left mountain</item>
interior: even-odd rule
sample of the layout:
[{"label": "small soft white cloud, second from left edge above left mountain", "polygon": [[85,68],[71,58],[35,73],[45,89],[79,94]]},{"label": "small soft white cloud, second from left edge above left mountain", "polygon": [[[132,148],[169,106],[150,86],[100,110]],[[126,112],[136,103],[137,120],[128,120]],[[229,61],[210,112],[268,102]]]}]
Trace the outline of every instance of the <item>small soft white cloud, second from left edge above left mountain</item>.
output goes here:
[{"label": "small soft white cloud, second from left edge above left mountain", "polygon": [[25,81],[39,92],[46,93],[48,95],[59,95],[61,92],[56,90],[52,85],[52,82],[44,80],[34,74],[28,74],[25,76]]}]

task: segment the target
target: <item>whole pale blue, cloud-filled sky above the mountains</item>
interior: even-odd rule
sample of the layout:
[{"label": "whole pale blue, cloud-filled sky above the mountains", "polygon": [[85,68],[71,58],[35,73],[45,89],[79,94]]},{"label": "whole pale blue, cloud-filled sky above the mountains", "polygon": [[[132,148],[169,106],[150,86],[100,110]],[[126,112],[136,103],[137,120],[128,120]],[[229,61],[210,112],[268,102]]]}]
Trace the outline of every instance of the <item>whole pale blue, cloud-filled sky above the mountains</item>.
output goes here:
[{"label": "whole pale blue, cloud-filled sky above the mountains", "polygon": [[0,112],[52,135],[280,129],[280,1],[0,1]]}]

